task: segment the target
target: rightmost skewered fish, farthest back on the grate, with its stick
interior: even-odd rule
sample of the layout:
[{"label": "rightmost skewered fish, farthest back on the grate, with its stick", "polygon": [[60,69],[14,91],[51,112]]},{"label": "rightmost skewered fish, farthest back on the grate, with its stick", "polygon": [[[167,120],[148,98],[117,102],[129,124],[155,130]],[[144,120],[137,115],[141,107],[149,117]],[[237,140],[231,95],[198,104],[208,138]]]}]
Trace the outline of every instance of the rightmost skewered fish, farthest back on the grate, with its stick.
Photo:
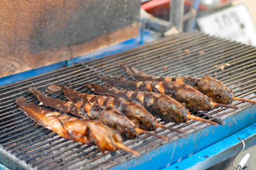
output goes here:
[{"label": "rightmost skewered fish, farthest back on the grate, with its stick", "polygon": [[152,76],[138,71],[133,67],[124,66],[124,69],[127,71],[129,76],[138,81],[174,81],[184,83],[211,97],[216,103],[231,104],[232,101],[236,100],[256,103],[256,101],[235,97],[232,90],[224,85],[224,83],[210,76],[204,76],[202,78],[195,78],[191,76]]}]

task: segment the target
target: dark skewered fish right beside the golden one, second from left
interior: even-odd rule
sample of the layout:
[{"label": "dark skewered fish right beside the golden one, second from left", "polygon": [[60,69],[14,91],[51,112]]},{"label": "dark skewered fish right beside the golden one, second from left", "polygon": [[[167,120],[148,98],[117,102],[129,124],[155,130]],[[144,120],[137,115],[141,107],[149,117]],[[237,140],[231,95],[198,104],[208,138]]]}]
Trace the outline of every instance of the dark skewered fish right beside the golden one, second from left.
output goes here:
[{"label": "dark skewered fish right beside the golden one, second from left", "polygon": [[129,118],[125,117],[123,113],[120,113],[120,111],[113,107],[106,108],[100,106],[100,104],[61,101],[58,99],[53,99],[52,97],[43,96],[38,90],[35,89],[35,87],[29,88],[29,90],[40,102],[44,103],[45,105],[56,108],[65,113],[72,113],[73,115],[77,115],[79,117],[84,118],[85,116],[88,119],[97,119],[103,124],[113,127],[113,129],[116,129],[118,132],[122,133],[125,138],[134,139],[139,134],[150,134],[151,136],[168,140],[168,138],[165,136],[153,134],[136,127],[136,125],[129,120]]}]

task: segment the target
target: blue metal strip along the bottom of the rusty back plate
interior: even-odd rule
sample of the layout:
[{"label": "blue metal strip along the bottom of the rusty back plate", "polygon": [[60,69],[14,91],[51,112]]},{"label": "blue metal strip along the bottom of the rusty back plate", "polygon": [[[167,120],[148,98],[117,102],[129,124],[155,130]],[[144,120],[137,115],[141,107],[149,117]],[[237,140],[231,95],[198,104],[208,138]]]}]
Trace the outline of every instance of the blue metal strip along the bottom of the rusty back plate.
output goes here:
[{"label": "blue metal strip along the bottom of the rusty back plate", "polygon": [[[143,32],[143,39],[145,43],[148,43],[150,41],[150,39],[154,40],[154,36],[156,36],[156,34],[152,31],[144,31]],[[140,46],[140,42],[141,42],[141,36],[137,36],[136,38],[132,38],[129,39],[127,41],[124,41],[122,43],[118,43],[116,45],[113,46],[109,46],[107,48],[103,48],[101,50],[98,50],[97,52],[92,52],[92,53],[88,53],[86,55],[83,55],[81,57],[76,57],[74,59],[71,60],[66,60],[63,62],[58,62],[56,64],[51,64],[49,66],[44,66],[44,67],[40,67],[37,69],[32,69],[29,71],[24,71],[22,73],[17,73],[17,74],[13,74],[10,76],[5,76],[3,78],[0,78],[0,86],[3,85],[8,85],[10,83],[15,83],[17,81],[20,80],[24,80],[26,78],[31,78],[33,76],[37,76],[43,73],[47,73],[49,71],[54,71],[56,69],[60,69],[61,67],[65,67],[65,66],[71,66],[72,64],[76,63],[76,62],[85,62],[87,60],[92,60],[92,59],[98,59],[100,57],[104,57],[106,55],[111,55],[114,53],[118,53],[118,52],[123,52],[125,50],[129,50],[131,48],[134,48],[136,46]]]}]

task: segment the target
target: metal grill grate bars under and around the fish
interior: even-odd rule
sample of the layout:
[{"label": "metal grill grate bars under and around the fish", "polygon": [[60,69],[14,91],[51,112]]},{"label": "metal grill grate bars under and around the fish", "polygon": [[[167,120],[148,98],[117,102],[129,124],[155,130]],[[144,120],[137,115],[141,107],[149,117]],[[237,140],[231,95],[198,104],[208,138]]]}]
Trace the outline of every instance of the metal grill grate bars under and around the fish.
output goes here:
[{"label": "metal grill grate bars under and around the fish", "polygon": [[[133,159],[131,153],[118,150],[103,155],[95,146],[79,145],[61,138],[54,132],[36,125],[26,117],[14,103],[18,97],[38,103],[28,92],[29,87],[47,90],[47,85],[61,83],[71,85],[72,89],[92,93],[82,87],[84,83],[102,83],[95,74],[129,76],[120,65],[133,66],[140,71],[156,75],[209,75],[222,80],[232,87],[236,96],[248,99],[256,97],[256,50],[252,46],[213,38],[202,32],[184,32],[143,45],[132,50],[109,55],[70,67],[63,67],[50,73],[35,76],[10,85],[0,87],[0,144],[2,154],[25,168],[74,169],[109,168]],[[63,99],[63,94],[54,93],[51,97]],[[246,108],[250,103],[235,101],[234,105]],[[226,118],[234,110],[216,108],[207,113],[213,117]],[[161,124],[166,124],[161,122]],[[202,122],[189,121],[188,124],[166,124],[192,133],[209,126]],[[184,134],[157,129],[159,134],[172,138],[182,138]],[[124,144],[141,154],[148,153],[168,142],[147,135],[140,135]]]}]

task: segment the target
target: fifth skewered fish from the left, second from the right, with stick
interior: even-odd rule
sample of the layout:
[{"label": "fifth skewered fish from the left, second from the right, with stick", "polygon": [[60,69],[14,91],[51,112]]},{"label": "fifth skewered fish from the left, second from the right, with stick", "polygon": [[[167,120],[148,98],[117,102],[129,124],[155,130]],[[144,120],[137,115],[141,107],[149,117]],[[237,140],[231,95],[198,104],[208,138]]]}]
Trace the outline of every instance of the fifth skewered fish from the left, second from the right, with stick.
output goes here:
[{"label": "fifth skewered fish from the left, second from the right, with stick", "polygon": [[[185,85],[184,83],[175,83],[173,81],[125,81],[113,80],[108,77],[98,76],[100,79],[107,81],[108,85],[119,87],[126,90],[142,91],[142,92],[157,92],[166,94],[181,103],[185,103],[186,108],[191,111],[209,111],[214,106],[220,106],[218,103],[212,102],[212,99],[205,94],[202,94],[196,89]],[[238,108],[221,104],[227,108]]]}]

